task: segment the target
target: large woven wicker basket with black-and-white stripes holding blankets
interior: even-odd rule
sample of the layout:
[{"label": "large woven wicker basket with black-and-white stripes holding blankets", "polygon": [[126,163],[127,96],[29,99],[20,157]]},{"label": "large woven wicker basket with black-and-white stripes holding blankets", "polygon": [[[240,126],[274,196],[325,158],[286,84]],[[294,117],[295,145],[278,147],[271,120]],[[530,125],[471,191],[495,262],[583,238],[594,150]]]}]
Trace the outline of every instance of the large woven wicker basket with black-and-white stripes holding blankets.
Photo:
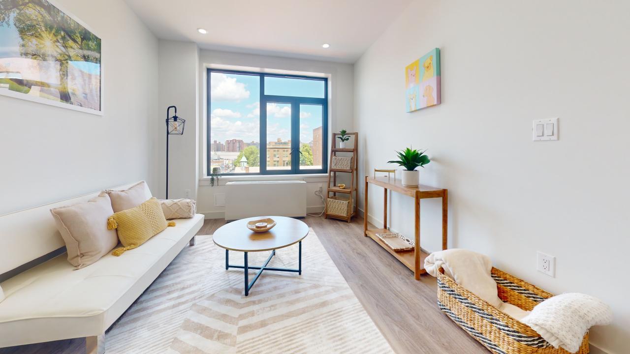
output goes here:
[{"label": "large woven wicker basket with black-and-white stripes holding blankets", "polygon": [[[440,269],[442,271],[442,269]],[[531,311],[552,294],[504,271],[492,268],[501,300]],[[570,354],[556,349],[524,323],[504,314],[488,302],[462,288],[443,273],[438,273],[438,306],[458,326],[496,354]],[[588,354],[588,332],[579,354]]]}]

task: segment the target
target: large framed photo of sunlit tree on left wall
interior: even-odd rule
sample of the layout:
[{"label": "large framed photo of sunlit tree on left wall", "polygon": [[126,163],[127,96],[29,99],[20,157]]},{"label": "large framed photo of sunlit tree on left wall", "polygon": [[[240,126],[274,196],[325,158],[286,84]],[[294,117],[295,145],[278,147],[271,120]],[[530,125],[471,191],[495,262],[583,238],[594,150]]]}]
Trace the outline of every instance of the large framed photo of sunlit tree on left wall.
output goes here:
[{"label": "large framed photo of sunlit tree on left wall", "polygon": [[47,0],[0,1],[0,94],[102,114],[101,38]]}]

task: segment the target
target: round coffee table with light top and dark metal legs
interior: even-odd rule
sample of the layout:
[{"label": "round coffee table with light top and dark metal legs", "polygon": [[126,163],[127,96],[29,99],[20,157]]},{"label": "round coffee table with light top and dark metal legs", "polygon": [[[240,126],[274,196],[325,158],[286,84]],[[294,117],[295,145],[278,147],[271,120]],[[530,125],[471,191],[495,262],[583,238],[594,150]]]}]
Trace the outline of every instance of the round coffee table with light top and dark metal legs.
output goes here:
[{"label": "round coffee table with light top and dark metal legs", "polygon": [[[265,219],[267,217],[270,217],[276,222],[276,226],[270,231],[253,232],[247,228],[248,221]],[[229,268],[244,270],[245,296],[248,296],[249,290],[254,286],[254,283],[256,283],[256,280],[258,280],[263,270],[292,271],[302,275],[302,239],[304,239],[307,234],[309,234],[309,227],[301,220],[284,216],[249,217],[248,219],[232,221],[219,227],[219,229],[214,232],[212,241],[214,241],[214,244],[217,246],[226,249],[226,270]],[[267,266],[275,255],[276,249],[285,248],[296,243],[299,243],[297,269]],[[244,262],[242,266],[229,264],[229,251],[243,252]],[[248,253],[262,251],[272,251],[272,254],[270,254],[269,258],[265,261],[265,264],[262,266],[250,266],[248,264]],[[258,273],[256,273],[251,283],[249,283],[249,269],[258,269]]]}]

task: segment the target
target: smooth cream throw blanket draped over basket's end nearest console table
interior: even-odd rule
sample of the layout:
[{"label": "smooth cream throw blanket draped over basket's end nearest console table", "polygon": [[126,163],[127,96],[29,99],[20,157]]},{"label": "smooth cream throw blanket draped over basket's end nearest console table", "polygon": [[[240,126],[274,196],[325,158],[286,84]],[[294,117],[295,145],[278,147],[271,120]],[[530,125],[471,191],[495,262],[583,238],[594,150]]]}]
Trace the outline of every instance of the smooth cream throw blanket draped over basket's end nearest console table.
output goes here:
[{"label": "smooth cream throw blanket draped over basket's end nearest console table", "polygon": [[490,276],[490,271],[492,270],[490,257],[467,249],[453,248],[433,252],[425,258],[427,273],[437,277],[440,268],[444,268],[444,274],[455,280],[455,283],[458,283],[508,316],[520,320],[529,313],[529,311],[524,311],[499,299],[496,282]]}]

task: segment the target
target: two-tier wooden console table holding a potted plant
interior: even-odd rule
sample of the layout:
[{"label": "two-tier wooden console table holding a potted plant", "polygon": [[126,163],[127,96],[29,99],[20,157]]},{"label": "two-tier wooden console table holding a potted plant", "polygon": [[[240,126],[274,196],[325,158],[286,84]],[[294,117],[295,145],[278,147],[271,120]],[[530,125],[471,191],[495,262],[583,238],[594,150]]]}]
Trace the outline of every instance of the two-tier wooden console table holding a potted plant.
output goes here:
[{"label": "two-tier wooden console table holding a potted plant", "polygon": [[[383,200],[383,228],[382,229],[368,229],[367,228],[367,190],[369,184],[381,186],[384,188]],[[415,199],[415,244],[416,247],[413,251],[394,252],[389,246],[387,246],[376,234],[385,234],[390,232],[387,229],[387,190],[392,190],[403,195],[408,195]],[[372,178],[365,176],[365,210],[364,210],[364,234],[371,237],[377,244],[380,244],[382,248],[396,257],[403,265],[407,266],[416,278],[420,280],[420,274],[426,273],[424,268],[425,258],[428,254],[420,248],[420,199],[424,198],[442,198],[442,249],[447,249],[447,220],[448,220],[448,190],[442,188],[435,188],[432,186],[419,185],[417,187],[403,186],[401,180],[390,180],[387,177]]]}]

